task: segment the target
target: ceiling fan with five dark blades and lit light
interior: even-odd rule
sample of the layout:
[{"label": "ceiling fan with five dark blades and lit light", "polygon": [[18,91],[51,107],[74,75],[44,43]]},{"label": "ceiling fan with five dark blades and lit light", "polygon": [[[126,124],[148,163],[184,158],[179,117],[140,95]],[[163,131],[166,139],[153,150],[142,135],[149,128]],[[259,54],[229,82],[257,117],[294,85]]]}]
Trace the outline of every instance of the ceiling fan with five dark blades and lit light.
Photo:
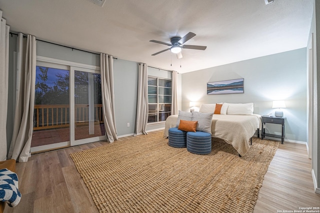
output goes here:
[{"label": "ceiling fan with five dark blades and lit light", "polygon": [[150,42],[154,42],[154,43],[160,43],[160,44],[164,44],[167,46],[171,46],[170,48],[161,50],[159,52],[156,52],[152,55],[157,55],[161,52],[165,52],[167,50],[170,50],[172,53],[176,54],[177,58],[182,58],[182,53],[181,50],[183,49],[198,49],[198,50],[205,50],[206,46],[197,46],[197,45],[182,45],[184,44],[186,41],[188,41],[189,39],[193,38],[195,36],[195,34],[193,32],[188,32],[186,35],[184,35],[182,38],[179,36],[174,36],[172,38],[170,38],[170,42],[169,43],[165,43],[162,41],[156,41],[156,40],[150,40]]}]

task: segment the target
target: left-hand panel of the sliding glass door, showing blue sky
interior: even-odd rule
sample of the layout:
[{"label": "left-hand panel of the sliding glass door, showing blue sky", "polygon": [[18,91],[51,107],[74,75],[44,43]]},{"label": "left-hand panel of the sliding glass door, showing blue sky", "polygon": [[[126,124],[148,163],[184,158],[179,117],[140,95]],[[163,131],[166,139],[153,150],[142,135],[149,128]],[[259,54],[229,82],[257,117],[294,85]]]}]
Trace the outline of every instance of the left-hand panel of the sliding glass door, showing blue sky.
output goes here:
[{"label": "left-hand panel of the sliding glass door, showing blue sky", "polygon": [[69,67],[38,62],[31,152],[69,145]]}]

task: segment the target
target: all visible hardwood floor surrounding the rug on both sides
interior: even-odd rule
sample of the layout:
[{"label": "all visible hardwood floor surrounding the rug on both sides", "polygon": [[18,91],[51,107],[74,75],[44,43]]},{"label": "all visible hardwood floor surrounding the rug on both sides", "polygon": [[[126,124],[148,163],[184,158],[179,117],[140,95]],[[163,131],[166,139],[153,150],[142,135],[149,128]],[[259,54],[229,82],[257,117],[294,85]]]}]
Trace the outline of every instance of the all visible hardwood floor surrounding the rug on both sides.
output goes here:
[{"label": "all visible hardwood floor surrounding the rug on both sides", "polygon": [[[36,154],[26,163],[17,163],[16,173],[22,198],[17,207],[7,206],[4,213],[97,213],[69,154],[104,143],[95,142]],[[307,158],[304,145],[280,144],[264,176],[254,213],[320,207],[320,195],[313,191],[310,171],[311,160]]]}]

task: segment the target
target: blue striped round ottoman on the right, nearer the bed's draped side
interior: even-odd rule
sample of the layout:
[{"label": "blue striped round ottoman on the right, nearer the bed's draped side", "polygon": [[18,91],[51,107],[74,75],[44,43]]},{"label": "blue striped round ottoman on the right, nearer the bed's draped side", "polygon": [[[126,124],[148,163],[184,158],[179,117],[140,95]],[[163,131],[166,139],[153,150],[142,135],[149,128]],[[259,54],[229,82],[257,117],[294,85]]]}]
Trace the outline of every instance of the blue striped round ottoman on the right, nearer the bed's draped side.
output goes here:
[{"label": "blue striped round ottoman on the right, nearer the bed's draped side", "polygon": [[211,152],[211,134],[201,131],[187,132],[186,150],[194,154],[209,154]]}]

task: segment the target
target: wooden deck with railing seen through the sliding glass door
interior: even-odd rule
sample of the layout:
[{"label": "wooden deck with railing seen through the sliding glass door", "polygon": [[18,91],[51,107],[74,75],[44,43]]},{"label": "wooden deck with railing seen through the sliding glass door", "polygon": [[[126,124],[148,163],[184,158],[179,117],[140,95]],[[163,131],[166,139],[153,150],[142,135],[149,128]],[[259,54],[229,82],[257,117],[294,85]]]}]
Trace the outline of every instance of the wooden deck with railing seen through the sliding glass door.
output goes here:
[{"label": "wooden deck with railing seen through the sliding glass door", "polygon": [[[60,143],[70,140],[70,109],[68,104],[34,105],[34,123],[31,147]],[[75,140],[105,134],[102,104],[94,104],[92,120],[94,134],[89,135],[89,105],[74,105]]]}]

